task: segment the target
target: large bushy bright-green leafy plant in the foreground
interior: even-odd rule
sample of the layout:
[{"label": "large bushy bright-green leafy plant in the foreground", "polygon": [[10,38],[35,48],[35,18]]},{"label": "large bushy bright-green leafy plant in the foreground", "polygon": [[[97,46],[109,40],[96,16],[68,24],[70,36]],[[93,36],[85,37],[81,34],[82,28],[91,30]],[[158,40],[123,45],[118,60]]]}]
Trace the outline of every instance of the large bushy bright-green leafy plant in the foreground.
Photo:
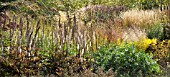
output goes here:
[{"label": "large bushy bright-green leafy plant in the foreground", "polygon": [[112,69],[118,76],[153,75],[161,72],[159,65],[144,51],[133,45],[103,45],[94,53],[94,68]]}]

